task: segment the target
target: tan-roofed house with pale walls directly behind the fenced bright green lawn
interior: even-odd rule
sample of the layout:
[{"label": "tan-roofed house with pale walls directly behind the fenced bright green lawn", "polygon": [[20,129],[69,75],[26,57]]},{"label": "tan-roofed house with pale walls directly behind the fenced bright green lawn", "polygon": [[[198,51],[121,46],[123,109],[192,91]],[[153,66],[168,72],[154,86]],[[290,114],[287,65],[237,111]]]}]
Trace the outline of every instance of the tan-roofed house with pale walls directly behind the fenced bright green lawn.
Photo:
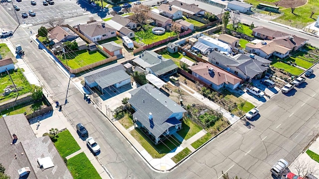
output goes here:
[{"label": "tan-roofed house with pale walls directly behind the fenced bright green lawn", "polygon": [[79,24],[75,28],[93,42],[115,37],[117,31],[105,22]]}]

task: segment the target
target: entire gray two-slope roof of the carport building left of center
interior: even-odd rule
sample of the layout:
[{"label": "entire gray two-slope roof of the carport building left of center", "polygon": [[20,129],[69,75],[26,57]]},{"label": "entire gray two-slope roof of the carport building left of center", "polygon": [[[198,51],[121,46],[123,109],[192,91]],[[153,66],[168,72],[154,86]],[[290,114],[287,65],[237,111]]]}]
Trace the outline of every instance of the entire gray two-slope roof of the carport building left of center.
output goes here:
[{"label": "entire gray two-slope roof of the carport building left of center", "polygon": [[125,72],[125,67],[122,64],[112,64],[89,72],[83,75],[83,77],[88,83],[98,83],[101,88],[106,88],[131,78],[130,75]]}]

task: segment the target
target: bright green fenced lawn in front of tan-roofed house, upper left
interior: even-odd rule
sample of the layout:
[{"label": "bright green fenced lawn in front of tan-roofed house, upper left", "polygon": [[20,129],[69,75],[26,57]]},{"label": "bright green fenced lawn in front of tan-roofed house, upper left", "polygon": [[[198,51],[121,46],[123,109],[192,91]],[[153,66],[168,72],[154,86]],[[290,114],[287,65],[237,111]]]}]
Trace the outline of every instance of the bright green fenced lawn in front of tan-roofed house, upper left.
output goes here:
[{"label": "bright green fenced lawn in front of tan-roofed house, upper left", "polygon": [[[69,53],[65,53],[67,61],[67,65],[71,69],[77,69],[107,58],[104,54],[96,51],[87,51],[87,50],[78,50]],[[64,54],[58,56],[58,58],[62,61],[62,63],[66,64]]]}]

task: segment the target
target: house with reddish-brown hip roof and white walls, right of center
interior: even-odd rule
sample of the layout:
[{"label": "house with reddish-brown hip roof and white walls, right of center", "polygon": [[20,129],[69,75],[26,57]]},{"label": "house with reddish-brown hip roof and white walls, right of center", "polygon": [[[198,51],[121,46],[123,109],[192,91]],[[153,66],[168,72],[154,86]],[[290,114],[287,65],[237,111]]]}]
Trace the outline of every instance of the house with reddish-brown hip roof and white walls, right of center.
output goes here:
[{"label": "house with reddish-brown hip roof and white walls, right of center", "polygon": [[215,90],[220,88],[235,89],[242,79],[210,63],[198,62],[188,67],[191,74]]}]

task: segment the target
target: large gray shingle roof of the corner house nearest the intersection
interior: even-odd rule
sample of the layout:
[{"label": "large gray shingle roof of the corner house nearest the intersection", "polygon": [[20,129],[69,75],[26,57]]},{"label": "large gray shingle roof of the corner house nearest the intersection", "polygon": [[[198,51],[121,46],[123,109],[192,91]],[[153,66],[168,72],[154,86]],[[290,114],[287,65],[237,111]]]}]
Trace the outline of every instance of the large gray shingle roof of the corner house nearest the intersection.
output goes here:
[{"label": "large gray shingle roof of the corner house nearest the intersection", "polygon": [[[133,118],[143,124],[155,137],[160,137],[169,127],[180,123],[175,118],[169,119],[173,113],[186,112],[150,84],[145,84],[130,93],[132,98],[129,103],[136,109]],[[152,113],[153,121],[149,120],[149,113]]]}]

